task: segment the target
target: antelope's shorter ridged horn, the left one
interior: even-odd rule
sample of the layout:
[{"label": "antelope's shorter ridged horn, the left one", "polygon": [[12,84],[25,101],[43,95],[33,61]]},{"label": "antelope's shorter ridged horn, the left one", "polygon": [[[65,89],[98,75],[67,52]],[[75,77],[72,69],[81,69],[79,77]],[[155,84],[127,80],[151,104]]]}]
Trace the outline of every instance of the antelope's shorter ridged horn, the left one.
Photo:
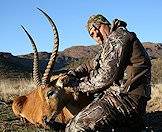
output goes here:
[{"label": "antelope's shorter ridged horn, the left one", "polygon": [[27,30],[21,25],[21,27],[23,28],[23,30],[25,31],[25,33],[27,34],[32,47],[33,47],[33,51],[34,51],[34,62],[33,62],[33,79],[34,79],[34,83],[36,84],[36,86],[40,86],[41,85],[41,79],[40,79],[40,74],[39,74],[39,58],[38,58],[38,51],[37,51],[37,47],[35,45],[35,42],[33,40],[33,38],[31,37],[31,35],[27,32]]}]

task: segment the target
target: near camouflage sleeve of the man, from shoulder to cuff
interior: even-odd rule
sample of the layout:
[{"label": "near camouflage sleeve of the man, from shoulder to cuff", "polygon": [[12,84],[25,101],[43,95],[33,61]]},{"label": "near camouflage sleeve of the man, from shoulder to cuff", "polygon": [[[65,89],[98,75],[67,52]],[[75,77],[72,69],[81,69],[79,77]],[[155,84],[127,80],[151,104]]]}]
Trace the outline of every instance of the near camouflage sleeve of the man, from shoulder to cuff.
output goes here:
[{"label": "near camouflage sleeve of the man, from shoulder to cuff", "polygon": [[[82,92],[98,92],[110,87],[115,81],[123,77],[129,60],[130,34],[126,29],[120,28],[108,37],[103,46],[98,69],[90,72],[90,79],[79,84]],[[120,74],[122,75],[120,75]]]}]

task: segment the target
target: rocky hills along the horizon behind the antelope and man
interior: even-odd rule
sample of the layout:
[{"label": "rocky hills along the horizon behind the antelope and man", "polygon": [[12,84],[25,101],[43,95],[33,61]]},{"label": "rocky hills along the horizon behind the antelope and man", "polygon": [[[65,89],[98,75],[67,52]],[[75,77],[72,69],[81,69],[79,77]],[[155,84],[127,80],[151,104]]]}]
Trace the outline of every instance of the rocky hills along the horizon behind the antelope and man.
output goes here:
[{"label": "rocky hills along the horizon behind the antelope and man", "polygon": [[[143,43],[152,59],[162,58],[162,44]],[[64,70],[71,64],[86,61],[95,56],[99,46],[73,46],[59,52],[54,70]],[[39,52],[40,71],[46,68],[51,53]],[[30,77],[32,74],[33,53],[13,56],[11,53],[0,52],[0,79]]]}]

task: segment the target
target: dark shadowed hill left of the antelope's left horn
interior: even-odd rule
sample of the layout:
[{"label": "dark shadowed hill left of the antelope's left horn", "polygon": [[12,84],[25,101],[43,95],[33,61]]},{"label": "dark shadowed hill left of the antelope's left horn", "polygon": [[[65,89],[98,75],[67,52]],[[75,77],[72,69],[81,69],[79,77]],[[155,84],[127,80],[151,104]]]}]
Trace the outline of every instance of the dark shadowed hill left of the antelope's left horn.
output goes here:
[{"label": "dark shadowed hill left of the antelope's left horn", "polygon": [[32,64],[28,59],[0,52],[0,79],[30,77],[32,67],[24,65],[24,62]]}]

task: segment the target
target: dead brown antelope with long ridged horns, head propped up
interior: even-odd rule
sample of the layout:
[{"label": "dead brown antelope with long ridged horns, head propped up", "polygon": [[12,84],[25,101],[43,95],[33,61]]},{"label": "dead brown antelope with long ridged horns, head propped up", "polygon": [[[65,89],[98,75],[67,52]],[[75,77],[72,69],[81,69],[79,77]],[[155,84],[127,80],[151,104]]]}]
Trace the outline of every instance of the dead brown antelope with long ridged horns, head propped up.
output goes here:
[{"label": "dead brown antelope with long ridged horns, head propped up", "polygon": [[36,45],[30,34],[22,26],[32,43],[34,51],[33,80],[36,84],[36,88],[27,95],[15,98],[13,100],[12,109],[16,116],[25,118],[32,124],[47,127],[51,119],[56,119],[60,123],[67,123],[67,121],[77,114],[84,106],[88,105],[92,98],[87,97],[85,94],[81,94],[76,101],[73,92],[56,85],[60,82],[60,76],[51,79],[51,70],[54,66],[58,52],[59,36],[52,19],[44,11],[41,9],[39,10],[45,15],[52,26],[54,48],[41,80]]}]

